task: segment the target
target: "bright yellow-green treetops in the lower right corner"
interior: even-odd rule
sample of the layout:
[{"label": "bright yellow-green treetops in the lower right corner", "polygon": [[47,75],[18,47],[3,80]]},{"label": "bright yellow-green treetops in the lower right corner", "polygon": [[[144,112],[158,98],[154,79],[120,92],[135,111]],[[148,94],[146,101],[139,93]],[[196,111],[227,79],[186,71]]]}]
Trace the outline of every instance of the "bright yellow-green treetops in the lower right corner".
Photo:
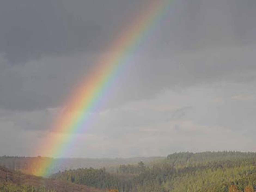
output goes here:
[{"label": "bright yellow-green treetops in the lower right corner", "polygon": [[167,191],[172,192],[225,192],[231,185],[237,186],[239,191],[243,191],[248,185],[255,186],[256,167],[196,170],[167,181],[164,187]]}]

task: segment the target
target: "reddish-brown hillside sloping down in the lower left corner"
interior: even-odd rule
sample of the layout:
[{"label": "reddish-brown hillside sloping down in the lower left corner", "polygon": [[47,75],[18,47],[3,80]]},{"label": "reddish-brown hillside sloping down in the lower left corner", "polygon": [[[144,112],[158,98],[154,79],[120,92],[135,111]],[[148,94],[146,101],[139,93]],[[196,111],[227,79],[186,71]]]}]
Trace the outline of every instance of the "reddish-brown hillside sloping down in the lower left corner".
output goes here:
[{"label": "reddish-brown hillside sloping down in the lower left corner", "polygon": [[[2,190],[2,189],[8,190]],[[105,192],[87,187],[86,185],[72,184],[56,179],[46,179],[33,175],[8,170],[0,167],[0,191],[49,191],[49,192]],[[26,190],[24,190],[26,188]],[[35,190],[28,190],[34,188]],[[19,190],[16,190],[19,189]],[[36,190],[38,189],[38,190]]]}]

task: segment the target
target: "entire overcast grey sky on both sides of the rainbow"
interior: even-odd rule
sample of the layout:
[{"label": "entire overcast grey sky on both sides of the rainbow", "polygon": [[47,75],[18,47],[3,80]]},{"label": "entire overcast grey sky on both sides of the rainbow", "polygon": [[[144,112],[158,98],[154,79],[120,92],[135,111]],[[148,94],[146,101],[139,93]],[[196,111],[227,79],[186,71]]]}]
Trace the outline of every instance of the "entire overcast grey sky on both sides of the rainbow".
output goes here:
[{"label": "entire overcast grey sky on both sides of the rainbow", "polygon": [[[148,3],[0,1],[0,156],[41,155],[63,101]],[[255,10],[173,0],[65,156],[256,151]]]}]

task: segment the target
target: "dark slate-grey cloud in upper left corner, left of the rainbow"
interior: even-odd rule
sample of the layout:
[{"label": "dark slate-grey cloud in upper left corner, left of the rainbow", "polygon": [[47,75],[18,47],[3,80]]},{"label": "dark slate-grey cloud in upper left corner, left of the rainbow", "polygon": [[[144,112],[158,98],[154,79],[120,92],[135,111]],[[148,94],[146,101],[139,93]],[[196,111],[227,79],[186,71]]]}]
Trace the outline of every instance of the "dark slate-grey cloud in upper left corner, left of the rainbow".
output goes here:
[{"label": "dark slate-grey cloud in upper left corner, left of the rainbow", "polygon": [[99,52],[140,1],[3,0],[0,54],[11,64],[48,55]]}]

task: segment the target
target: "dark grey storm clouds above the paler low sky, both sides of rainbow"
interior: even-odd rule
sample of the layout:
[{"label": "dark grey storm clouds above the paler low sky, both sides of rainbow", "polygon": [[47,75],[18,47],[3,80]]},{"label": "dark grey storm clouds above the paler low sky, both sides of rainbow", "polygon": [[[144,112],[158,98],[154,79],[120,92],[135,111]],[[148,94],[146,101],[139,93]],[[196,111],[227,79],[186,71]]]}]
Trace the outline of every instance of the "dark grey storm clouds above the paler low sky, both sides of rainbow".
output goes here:
[{"label": "dark grey storm clouds above the paler low sky, both sides of rainbow", "polygon": [[[230,80],[232,74],[235,80],[254,79],[255,4],[173,1],[127,64],[107,105],[148,97],[173,85]],[[146,5],[117,0],[1,1],[0,106],[31,110],[61,105],[104,53],[106,42],[129,20],[124,17],[131,19]],[[18,63],[24,64],[10,66]],[[252,74],[237,77],[248,71]]]}]

